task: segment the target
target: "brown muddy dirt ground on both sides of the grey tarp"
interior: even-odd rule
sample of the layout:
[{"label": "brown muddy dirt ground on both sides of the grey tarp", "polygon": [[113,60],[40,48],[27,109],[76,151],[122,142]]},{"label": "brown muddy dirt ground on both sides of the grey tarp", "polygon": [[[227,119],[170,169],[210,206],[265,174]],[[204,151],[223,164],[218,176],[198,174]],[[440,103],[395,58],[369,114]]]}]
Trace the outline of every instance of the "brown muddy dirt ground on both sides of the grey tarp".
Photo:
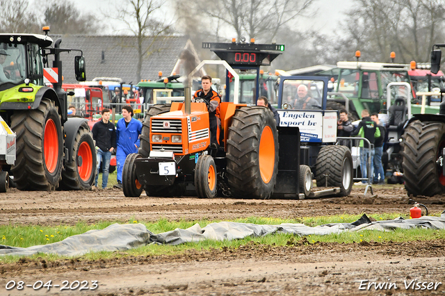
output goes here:
[{"label": "brown muddy dirt ground on both sides of the grey tarp", "polygon": [[[9,190],[0,195],[0,224],[409,213],[411,205],[403,186],[373,186],[374,196],[368,190],[366,197],[364,189],[354,186],[348,197],[305,200],[127,198],[119,190]],[[414,199],[426,204],[430,213],[445,210],[445,196]],[[285,247],[252,243],[238,249],[190,251],[175,256],[56,262],[24,259],[0,263],[0,295],[445,295],[444,255],[445,240],[438,239],[307,244],[304,238],[296,238]],[[49,291],[6,289],[7,283],[20,280],[36,286],[38,281],[51,280],[60,286]],[[69,281],[71,288],[60,290],[63,281]],[[98,281],[98,287],[79,290],[76,281],[86,281],[81,283],[84,288]],[[444,284],[439,283],[442,281]],[[416,290],[418,282],[419,289],[422,283],[425,289]],[[373,283],[383,289],[375,290]]]}]

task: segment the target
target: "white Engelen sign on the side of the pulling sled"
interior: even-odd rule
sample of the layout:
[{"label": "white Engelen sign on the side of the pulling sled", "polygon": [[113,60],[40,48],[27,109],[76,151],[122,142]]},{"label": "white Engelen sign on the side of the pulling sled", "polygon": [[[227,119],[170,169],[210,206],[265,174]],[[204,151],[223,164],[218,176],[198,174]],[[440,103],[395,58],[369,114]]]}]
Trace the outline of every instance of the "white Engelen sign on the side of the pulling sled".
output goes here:
[{"label": "white Engelen sign on the side of the pulling sled", "polygon": [[280,126],[300,128],[301,142],[336,142],[337,111],[278,110]]}]

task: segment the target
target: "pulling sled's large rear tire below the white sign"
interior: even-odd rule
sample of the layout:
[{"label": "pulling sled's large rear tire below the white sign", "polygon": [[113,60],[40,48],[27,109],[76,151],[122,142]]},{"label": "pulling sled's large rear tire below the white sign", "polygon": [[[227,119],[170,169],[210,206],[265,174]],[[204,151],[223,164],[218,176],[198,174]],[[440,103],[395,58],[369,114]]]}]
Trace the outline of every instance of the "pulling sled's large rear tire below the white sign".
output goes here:
[{"label": "pulling sled's large rear tire below the white sign", "polygon": [[[353,156],[346,146],[330,145],[320,149],[315,164],[317,187],[340,187],[338,196],[346,196],[353,189]],[[327,175],[327,176],[326,176]]]}]

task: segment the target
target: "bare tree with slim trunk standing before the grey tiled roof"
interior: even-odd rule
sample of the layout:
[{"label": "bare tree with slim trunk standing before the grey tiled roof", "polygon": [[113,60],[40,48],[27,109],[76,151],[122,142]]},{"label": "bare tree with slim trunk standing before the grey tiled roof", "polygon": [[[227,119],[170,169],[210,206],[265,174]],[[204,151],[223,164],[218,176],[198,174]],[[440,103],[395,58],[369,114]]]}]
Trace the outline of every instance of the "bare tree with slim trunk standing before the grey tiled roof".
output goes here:
[{"label": "bare tree with slim trunk standing before the grey tiled roof", "polygon": [[114,16],[126,24],[127,31],[136,36],[136,49],[138,51],[138,64],[136,65],[136,78],[140,80],[140,70],[143,59],[154,51],[152,45],[161,34],[171,34],[170,24],[165,20],[159,21],[154,12],[159,10],[166,0],[125,0],[122,2],[118,14]]}]

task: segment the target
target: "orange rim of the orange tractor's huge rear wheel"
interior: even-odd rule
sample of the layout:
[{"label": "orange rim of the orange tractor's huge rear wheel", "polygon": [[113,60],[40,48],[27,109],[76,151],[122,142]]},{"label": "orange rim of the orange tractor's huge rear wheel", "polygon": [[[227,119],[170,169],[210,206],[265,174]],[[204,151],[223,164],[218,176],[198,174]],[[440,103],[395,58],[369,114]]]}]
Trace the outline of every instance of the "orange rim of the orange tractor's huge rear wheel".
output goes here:
[{"label": "orange rim of the orange tractor's huge rear wheel", "polygon": [[270,126],[266,126],[261,133],[258,160],[261,179],[264,183],[269,183],[275,167],[275,141]]}]

